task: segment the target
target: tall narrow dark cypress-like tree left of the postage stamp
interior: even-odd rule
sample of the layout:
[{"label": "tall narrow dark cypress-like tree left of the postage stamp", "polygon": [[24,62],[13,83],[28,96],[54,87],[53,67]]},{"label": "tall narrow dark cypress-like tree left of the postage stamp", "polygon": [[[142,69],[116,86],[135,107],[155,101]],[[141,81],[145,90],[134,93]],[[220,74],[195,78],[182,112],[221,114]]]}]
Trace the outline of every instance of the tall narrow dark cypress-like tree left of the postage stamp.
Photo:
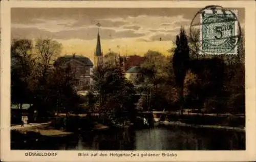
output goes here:
[{"label": "tall narrow dark cypress-like tree left of the postage stamp", "polygon": [[176,49],[173,55],[173,70],[175,81],[179,88],[180,113],[183,113],[183,87],[184,78],[189,67],[189,47],[188,40],[183,27],[180,34],[176,36]]}]

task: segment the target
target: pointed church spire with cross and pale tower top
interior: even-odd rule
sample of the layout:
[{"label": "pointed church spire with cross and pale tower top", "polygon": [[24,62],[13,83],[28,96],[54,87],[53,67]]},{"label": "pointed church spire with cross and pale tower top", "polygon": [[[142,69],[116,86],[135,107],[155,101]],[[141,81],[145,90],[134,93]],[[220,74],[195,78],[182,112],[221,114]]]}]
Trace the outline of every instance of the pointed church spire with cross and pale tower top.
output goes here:
[{"label": "pointed church spire with cross and pale tower top", "polygon": [[100,36],[99,36],[99,28],[101,25],[99,23],[96,25],[98,26],[98,36],[97,36],[96,50],[94,54],[94,65],[98,66],[103,64],[103,54],[101,51]]}]

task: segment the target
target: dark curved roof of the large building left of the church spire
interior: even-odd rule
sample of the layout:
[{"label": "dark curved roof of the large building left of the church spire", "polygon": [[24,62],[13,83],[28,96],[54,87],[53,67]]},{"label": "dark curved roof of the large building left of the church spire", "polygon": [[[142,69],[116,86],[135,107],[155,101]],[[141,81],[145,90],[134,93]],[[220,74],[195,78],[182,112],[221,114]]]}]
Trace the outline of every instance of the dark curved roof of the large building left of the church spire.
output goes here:
[{"label": "dark curved roof of the large building left of the church spire", "polygon": [[63,57],[59,57],[57,58],[57,60],[54,62],[54,66],[57,66],[59,63],[66,63],[72,59],[75,59],[77,61],[80,61],[82,63],[84,63],[86,66],[93,66],[92,61],[88,58],[88,57],[84,57],[84,56],[76,56],[76,55],[67,55],[67,56],[63,56]]}]

